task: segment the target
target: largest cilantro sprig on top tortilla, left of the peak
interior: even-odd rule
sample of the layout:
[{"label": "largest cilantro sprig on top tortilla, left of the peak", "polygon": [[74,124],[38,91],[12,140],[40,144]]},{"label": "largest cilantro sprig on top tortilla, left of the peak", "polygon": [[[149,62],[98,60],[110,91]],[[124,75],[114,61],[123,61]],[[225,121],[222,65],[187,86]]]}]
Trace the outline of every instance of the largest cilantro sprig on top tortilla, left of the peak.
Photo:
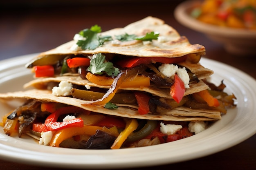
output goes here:
[{"label": "largest cilantro sprig on top tortilla, left of the peak", "polygon": [[85,40],[78,40],[76,43],[78,46],[81,46],[83,50],[94,50],[97,47],[104,44],[105,41],[110,41],[111,36],[98,36],[98,33],[101,33],[101,27],[98,25],[92,26],[90,29],[84,29],[79,32]]}]

